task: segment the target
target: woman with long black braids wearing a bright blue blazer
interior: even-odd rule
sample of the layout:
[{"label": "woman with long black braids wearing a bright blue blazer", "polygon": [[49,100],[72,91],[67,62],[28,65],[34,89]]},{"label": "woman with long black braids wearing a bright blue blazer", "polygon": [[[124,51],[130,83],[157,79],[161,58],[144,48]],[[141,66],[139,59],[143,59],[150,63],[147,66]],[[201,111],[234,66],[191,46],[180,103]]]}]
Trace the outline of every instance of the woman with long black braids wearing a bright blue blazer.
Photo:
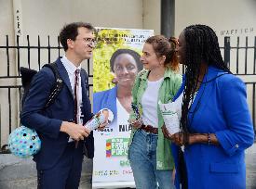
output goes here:
[{"label": "woman with long black braids wearing a bright blue blazer", "polygon": [[245,189],[244,151],[254,141],[245,84],[224,64],[218,38],[208,26],[185,28],[177,53],[186,66],[176,95],[177,102],[182,98],[177,103],[182,132],[163,130],[176,144],[176,179],[181,170],[177,145],[183,145],[187,180],[182,188]]}]

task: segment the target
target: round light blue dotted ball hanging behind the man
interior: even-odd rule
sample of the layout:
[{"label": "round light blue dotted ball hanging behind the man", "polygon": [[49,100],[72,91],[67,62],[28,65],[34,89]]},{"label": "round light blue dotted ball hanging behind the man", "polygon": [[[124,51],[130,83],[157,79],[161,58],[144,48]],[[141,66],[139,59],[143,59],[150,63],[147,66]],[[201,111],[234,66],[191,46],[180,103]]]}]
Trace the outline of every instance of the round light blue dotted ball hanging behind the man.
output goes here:
[{"label": "round light blue dotted ball hanging behind the man", "polygon": [[8,139],[9,150],[17,157],[31,157],[41,148],[38,134],[30,128],[20,126],[10,133]]}]

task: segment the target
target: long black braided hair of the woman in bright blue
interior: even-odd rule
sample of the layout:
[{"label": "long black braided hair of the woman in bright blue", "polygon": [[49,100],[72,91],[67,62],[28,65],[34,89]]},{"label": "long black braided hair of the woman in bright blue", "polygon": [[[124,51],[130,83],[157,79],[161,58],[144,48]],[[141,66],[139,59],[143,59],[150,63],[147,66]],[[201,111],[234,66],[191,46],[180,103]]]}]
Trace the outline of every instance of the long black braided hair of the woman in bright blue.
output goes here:
[{"label": "long black braided hair of the woman in bright blue", "polygon": [[[218,37],[206,25],[191,25],[184,29],[185,38],[185,87],[182,98],[181,128],[184,133],[184,143],[188,143],[188,112],[195,97],[199,73],[203,64],[213,66],[231,73],[222,59]],[[195,112],[193,112],[195,113]]]}]

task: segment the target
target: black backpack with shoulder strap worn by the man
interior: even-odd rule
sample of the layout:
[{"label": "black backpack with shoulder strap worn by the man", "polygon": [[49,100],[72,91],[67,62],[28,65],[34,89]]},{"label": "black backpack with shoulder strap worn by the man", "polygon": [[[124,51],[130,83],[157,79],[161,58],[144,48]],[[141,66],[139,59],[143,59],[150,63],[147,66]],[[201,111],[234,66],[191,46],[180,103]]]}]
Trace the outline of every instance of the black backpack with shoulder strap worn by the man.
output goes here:
[{"label": "black backpack with shoulder strap worn by the man", "polygon": [[[53,104],[56,97],[60,94],[61,89],[63,87],[63,81],[61,79],[60,73],[57,69],[57,65],[55,62],[46,64],[44,67],[51,69],[55,76],[54,87],[51,89],[50,95],[47,98],[47,103],[44,107],[44,108],[47,108]],[[27,69],[27,68],[20,67],[21,83],[22,83],[22,88],[23,88],[21,107],[23,106],[25,99],[29,93],[30,83],[32,82],[32,79],[36,73],[37,73],[37,71],[34,69]]]}]

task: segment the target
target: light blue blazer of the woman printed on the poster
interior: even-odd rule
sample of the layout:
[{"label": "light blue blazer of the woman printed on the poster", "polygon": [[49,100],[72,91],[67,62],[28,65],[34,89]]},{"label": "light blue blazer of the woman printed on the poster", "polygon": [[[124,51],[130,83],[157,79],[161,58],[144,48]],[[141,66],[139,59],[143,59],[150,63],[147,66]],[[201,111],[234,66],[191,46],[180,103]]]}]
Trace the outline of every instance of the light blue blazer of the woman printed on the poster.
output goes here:
[{"label": "light blue blazer of the woman printed on the poster", "polygon": [[116,94],[117,85],[109,90],[101,91],[93,94],[93,113],[97,113],[102,108],[109,108],[116,119]]}]

